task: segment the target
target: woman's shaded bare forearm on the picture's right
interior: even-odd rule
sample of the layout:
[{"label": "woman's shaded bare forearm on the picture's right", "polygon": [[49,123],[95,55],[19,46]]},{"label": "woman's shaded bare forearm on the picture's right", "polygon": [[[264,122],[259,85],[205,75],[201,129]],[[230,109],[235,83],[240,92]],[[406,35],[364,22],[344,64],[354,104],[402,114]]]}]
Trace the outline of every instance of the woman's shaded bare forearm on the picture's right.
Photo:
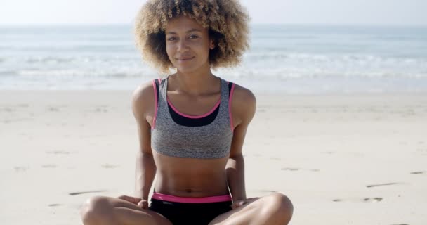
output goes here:
[{"label": "woman's shaded bare forearm on the picture's right", "polygon": [[232,200],[246,199],[243,155],[237,155],[228,159],[227,165],[225,166],[225,175],[227,176]]}]

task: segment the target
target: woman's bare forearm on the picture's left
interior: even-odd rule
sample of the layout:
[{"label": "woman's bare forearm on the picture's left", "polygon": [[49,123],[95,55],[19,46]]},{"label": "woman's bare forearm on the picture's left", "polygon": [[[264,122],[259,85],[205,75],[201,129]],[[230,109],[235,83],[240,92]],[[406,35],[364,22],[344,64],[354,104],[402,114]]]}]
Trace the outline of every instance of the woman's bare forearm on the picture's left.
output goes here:
[{"label": "woman's bare forearm on the picture's left", "polygon": [[152,181],[155,179],[156,165],[151,154],[138,153],[135,167],[135,194],[147,200]]}]

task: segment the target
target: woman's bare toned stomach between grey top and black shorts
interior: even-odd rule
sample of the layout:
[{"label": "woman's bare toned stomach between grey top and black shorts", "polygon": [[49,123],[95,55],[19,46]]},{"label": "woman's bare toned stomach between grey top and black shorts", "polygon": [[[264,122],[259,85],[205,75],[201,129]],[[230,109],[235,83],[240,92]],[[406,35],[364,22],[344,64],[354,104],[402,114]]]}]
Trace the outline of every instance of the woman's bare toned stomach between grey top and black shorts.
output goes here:
[{"label": "woman's bare toned stomach between grey top and black shorts", "polygon": [[176,158],[153,151],[157,166],[155,191],[180,197],[228,195],[225,165],[219,159]]}]

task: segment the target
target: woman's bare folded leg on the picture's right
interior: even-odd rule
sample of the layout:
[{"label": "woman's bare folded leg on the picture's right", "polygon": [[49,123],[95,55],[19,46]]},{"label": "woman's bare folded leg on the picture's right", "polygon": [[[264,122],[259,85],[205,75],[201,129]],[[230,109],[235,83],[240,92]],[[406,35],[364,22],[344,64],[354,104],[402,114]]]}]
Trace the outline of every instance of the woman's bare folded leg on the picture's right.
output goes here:
[{"label": "woman's bare folded leg on the picture's right", "polygon": [[286,225],[293,211],[294,206],[287,196],[272,193],[262,198],[251,198],[247,204],[219,215],[209,225]]}]

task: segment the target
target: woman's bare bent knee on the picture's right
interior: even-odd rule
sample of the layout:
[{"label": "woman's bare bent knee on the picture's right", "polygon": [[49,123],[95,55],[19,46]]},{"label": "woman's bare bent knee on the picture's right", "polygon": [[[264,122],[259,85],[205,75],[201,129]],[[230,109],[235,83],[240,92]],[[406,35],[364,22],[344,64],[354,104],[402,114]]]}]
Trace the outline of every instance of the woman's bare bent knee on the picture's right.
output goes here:
[{"label": "woman's bare bent knee on the picture's right", "polygon": [[291,200],[282,193],[273,193],[267,196],[268,203],[265,210],[271,218],[276,218],[281,224],[288,224],[294,213]]}]

